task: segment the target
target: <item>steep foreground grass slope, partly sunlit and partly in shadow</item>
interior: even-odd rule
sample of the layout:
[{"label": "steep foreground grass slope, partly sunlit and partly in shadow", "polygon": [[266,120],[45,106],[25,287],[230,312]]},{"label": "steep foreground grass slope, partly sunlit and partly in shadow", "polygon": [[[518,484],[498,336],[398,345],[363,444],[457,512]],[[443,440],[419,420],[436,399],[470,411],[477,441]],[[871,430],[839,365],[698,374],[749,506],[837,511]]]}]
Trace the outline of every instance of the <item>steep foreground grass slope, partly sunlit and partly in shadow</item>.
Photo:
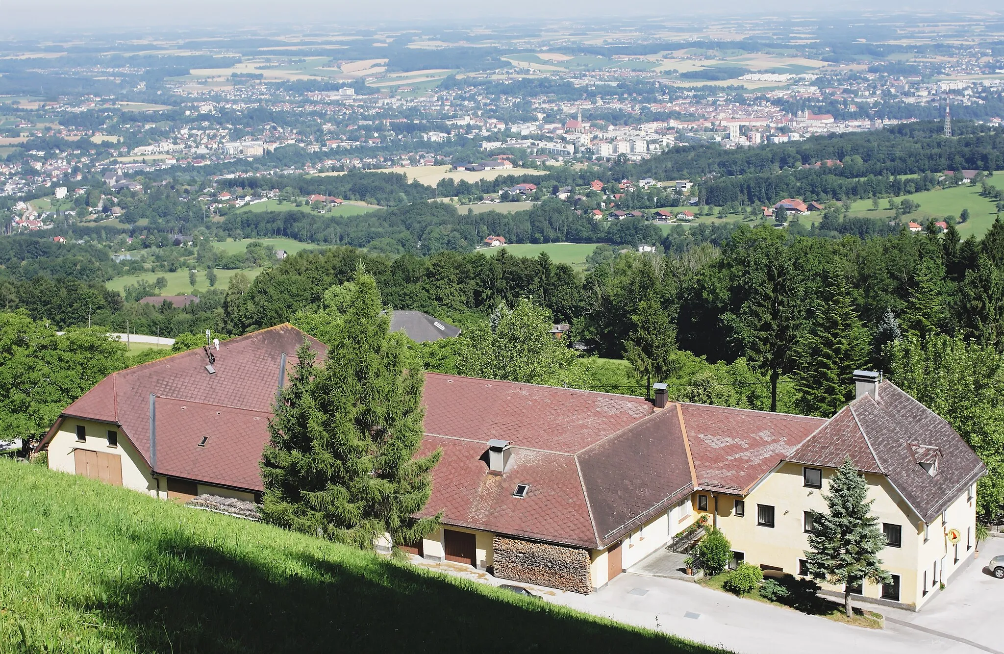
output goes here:
[{"label": "steep foreground grass slope, partly sunlit and partly in shadow", "polygon": [[720,651],[6,459],[0,525],[2,652]]}]

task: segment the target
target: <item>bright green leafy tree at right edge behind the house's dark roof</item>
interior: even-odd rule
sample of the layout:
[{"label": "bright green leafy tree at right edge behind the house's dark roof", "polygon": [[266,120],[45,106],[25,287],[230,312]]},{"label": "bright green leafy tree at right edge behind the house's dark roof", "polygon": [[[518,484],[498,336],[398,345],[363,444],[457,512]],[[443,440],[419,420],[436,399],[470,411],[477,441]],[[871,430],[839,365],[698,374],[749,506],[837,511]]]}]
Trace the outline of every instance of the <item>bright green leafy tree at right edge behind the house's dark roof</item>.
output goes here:
[{"label": "bright green leafy tree at right edge behind the house's dark roof", "polygon": [[[948,421],[983,459],[977,482],[983,520],[1004,514],[1004,356],[962,337],[908,336],[890,347],[892,378]],[[993,522],[991,522],[993,523]]]}]

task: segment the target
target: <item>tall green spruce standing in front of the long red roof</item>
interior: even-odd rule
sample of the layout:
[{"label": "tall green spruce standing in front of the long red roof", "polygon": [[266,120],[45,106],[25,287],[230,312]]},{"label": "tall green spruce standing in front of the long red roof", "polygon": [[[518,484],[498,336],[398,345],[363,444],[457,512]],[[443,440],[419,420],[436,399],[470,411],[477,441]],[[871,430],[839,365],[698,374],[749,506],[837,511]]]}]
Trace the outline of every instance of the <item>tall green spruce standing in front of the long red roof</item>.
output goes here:
[{"label": "tall green spruce standing in front of the long red roof", "polygon": [[401,334],[390,333],[372,276],[356,269],[339,297],[324,365],[304,344],[269,421],[261,463],[266,520],[369,549],[437,528],[413,519],[429,500],[440,452],[416,458],[424,378]]}]

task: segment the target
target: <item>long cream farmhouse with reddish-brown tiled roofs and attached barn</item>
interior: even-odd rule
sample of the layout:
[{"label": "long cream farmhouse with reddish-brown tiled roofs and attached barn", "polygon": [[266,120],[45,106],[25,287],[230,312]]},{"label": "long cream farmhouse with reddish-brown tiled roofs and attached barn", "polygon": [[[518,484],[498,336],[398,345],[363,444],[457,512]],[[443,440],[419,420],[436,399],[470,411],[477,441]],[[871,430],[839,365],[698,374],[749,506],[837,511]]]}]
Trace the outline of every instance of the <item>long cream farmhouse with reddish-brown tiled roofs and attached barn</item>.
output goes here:
[{"label": "long cream farmhouse with reddish-brown tiled roofs and attached barn", "polygon": [[[158,497],[256,500],[272,403],[304,338],[323,353],[280,325],[114,373],[40,448],[53,469]],[[809,511],[848,456],[894,579],[863,598],[919,608],[975,544],[983,463],[875,374],[828,420],[431,373],[424,403],[423,453],[443,450],[425,514],[443,510],[444,526],[408,549],[430,560],[589,593],[704,519],[736,562],[802,575]]]}]

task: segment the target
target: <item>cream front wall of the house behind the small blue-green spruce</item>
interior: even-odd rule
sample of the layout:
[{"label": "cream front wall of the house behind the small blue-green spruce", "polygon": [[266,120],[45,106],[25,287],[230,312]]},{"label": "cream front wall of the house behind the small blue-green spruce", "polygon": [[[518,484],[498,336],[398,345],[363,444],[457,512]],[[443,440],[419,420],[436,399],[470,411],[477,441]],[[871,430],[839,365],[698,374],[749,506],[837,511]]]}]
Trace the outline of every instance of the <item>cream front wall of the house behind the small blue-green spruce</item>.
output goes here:
[{"label": "cream front wall of the house behind the small blue-green spruce", "polygon": [[[806,488],[802,480],[802,466],[785,463],[745,498],[744,517],[734,514],[735,497],[721,496],[718,526],[732,542],[732,549],[745,555],[747,563],[774,566],[797,575],[798,560],[805,558],[804,552],[808,549],[803,511],[826,510],[822,493],[828,490],[833,472],[823,468],[822,488]],[[871,513],[878,517],[880,522],[903,527],[903,547],[885,548],[880,557],[888,571],[900,576],[900,601],[912,603],[914,589],[918,588],[921,539],[917,529],[918,518],[885,477],[865,474],[864,478],[868,485],[868,498],[874,499]],[[773,528],[757,525],[757,504],[774,506]],[[828,590],[842,590],[827,584],[822,586]],[[865,583],[863,591],[865,597],[878,598],[882,595],[882,588],[872,584]]]}]

